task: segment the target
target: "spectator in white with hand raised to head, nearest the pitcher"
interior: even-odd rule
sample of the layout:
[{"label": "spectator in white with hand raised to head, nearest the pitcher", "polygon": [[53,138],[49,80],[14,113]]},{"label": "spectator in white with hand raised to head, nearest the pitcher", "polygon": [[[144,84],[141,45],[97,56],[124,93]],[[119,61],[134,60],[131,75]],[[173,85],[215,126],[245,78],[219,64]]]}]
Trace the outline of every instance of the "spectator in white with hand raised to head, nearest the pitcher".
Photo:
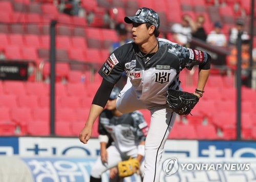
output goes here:
[{"label": "spectator in white with hand raised to head, nearest the pitcher", "polygon": [[188,47],[191,39],[191,33],[197,30],[195,22],[190,15],[184,14],[182,16],[181,24],[174,24],[171,28],[174,41],[184,47]]}]

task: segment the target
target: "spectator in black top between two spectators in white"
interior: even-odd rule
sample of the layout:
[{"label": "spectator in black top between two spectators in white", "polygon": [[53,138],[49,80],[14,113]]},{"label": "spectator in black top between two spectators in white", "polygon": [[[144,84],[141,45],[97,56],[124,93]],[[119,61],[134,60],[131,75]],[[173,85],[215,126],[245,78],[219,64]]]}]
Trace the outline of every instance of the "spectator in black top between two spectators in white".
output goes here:
[{"label": "spectator in black top between two spectators in white", "polygon": [[204,30],[204,21],[205,21],[205,17],[204,15],[199,15],[197,17],[197,21],[196,21],[196,30],[193,31],[192,33],[192,37],[198,38],[200,40],[206,41],[207,38],[207,34],[205,33]]}]

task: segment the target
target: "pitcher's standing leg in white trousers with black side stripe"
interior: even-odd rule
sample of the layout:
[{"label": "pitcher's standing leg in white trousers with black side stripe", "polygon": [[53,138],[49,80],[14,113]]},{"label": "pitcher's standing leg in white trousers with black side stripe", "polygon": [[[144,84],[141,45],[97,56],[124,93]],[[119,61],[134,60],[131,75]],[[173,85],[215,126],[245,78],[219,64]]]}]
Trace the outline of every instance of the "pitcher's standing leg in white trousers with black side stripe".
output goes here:
[{"label": "pitcher's standing leg in white trousers with black side stripe", "polygon": [[159,182],[164,144],[172,129],[176,113],[164,105],[151,110],[151,123],[145,143],[145,168],[143,181]]}]

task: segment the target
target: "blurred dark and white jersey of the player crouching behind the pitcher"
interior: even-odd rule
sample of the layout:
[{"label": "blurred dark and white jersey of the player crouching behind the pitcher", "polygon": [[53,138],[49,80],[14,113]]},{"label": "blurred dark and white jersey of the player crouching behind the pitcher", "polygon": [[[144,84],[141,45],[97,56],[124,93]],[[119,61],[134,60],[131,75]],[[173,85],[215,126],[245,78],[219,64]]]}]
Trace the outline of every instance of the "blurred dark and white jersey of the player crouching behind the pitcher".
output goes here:
[{"label": "blurred dark and white jersey of the player crouching behind the pitcher", "polygon": [[137,148],[141,141],[145,141],[147,131],[147,123],[139,111],[116,117],[111,110],[104,109],[99,116],[99,134],[110,135],[121,152]]}]

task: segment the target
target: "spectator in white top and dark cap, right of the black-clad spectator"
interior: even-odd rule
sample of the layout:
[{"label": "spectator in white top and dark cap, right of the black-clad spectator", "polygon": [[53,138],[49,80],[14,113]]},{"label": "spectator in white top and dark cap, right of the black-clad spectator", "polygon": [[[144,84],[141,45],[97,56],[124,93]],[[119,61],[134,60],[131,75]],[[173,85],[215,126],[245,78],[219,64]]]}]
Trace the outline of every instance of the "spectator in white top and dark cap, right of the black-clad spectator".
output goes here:
[{"label": "spectator in white top and dark cap, right of the black-clad spectator", "polygon": [[212,30],[207,38],[206,42],[215,45],[218,47],[226,47],[227,45],[227,38],[226,36],[221,32],[222,25],[219,21],[215,22],[214,24],[214,30]]}]

